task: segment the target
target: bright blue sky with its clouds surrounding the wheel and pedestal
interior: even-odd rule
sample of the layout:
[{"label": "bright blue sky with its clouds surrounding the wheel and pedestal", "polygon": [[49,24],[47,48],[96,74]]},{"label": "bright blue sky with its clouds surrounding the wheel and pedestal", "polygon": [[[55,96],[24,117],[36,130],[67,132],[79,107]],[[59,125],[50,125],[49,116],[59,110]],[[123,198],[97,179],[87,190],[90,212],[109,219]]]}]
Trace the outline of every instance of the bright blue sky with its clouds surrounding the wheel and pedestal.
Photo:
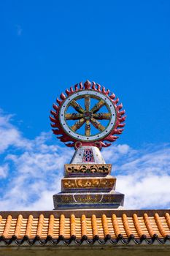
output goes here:
[{"label": "bright blue sky with its clouds surrounding the wheel and pedestal", "polygon": [[[163,0],[1,1],[1,208],[43,208],[39,192],[49,202],[59,190],[58,164],[72,152],[49,132],[49,112],[62,91],[87,79],[114,91],[127,114],[123,135],[103,151],[114,156],[126,206],[170,206],[162,200],[170,192],[169,184],[162,191],[170,165],[169,10]],[[140,195],[144,188],[147,203],[129,192],[131,183]],[[20,201],[26,186],[32,192]]]}]

